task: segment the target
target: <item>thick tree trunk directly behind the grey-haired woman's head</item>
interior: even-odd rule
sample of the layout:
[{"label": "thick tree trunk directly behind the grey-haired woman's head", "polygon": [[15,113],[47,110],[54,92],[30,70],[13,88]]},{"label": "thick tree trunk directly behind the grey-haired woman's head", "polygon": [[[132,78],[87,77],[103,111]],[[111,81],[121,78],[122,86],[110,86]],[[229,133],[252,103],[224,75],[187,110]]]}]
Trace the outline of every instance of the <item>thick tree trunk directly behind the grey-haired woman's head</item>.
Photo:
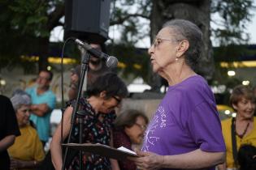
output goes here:
[{"label": "thick tree trunk directly behind the grey-haired woman's head", "polygon": [[[187,19],[201,28],[205,46],[202,49],[202,60],[195,71],[208,80],[212,79],[215,67],[210,43],[210,0],[154,0],[150,22],[151,40],[163,23],[171,19]],[[150,79],[153,89],[163,84],[157,74],[152,74]]]}]

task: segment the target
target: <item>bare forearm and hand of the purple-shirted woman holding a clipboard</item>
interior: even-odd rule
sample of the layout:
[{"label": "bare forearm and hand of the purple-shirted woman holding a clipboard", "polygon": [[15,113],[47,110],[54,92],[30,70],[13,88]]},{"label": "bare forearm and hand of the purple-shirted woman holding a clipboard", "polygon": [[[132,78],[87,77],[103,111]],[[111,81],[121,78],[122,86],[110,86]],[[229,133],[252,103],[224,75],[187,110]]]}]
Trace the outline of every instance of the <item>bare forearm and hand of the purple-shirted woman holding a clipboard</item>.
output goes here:
[{"label": "bare forearm and hand of the purple-shirted woman holding a clipboard", "polygon": [[151,152],[138,151],[139,158],[130,158],[135,161],[139,169],[154,168],[183,168],[199,169],[222,164],[225,152],[207,152],[197,149],[180,155],[157,155]]}]

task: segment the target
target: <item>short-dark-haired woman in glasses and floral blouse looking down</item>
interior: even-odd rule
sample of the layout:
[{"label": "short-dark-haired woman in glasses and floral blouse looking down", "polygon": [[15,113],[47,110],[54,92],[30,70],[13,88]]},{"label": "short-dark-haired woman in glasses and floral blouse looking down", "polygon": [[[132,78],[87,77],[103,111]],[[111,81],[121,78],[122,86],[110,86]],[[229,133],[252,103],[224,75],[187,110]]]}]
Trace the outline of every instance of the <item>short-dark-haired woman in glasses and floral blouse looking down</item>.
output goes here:
[{"label": "short-dark-haired woman in glasses and floral blouse looking down", "polygon": [[[101,143],[112,146],[112,126],[115,119],[115,108],[121,100],[128,95],[128,90],[124,82],[117,74],[108,73],[98,77],[93,86],[88,90],[88,98],[80,98],[80,110],[86,112],[83,117],[83,143]],[[71,128],[71,117],[73,104],[69,106],[63,116],[63,138],[67,138]],[[74,125],[76,132],[77,124]],[[78,142],[79,134],[72,134],[71,142]],[[58,126],[50,143],[50,151],[54,168],[62,169],[63,156],[61,148],[61,125]],[[68,156],[68,155],[67,155]],[[67,169],[79,169],[79,154],[71,159],[71,164],[67,164]],[[117,161],[99,155],[83,155],[84,169],[115,169],[118,168]]]}]

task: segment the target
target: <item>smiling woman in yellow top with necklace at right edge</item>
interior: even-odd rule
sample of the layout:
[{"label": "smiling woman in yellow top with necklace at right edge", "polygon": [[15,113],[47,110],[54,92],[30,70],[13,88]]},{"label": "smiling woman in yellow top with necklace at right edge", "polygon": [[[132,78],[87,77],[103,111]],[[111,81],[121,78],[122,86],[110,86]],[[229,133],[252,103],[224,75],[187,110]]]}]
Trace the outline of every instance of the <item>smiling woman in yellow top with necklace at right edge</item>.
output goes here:
[{"label": "smiling woman in yellow top with necklace at right edge", "polygon": [[243,144],[256,146],[256,117],[254,117],[254,91],[239,85],[234,87],[230,104],[236,111],[236,117],[221,122],[223,137],[227,147],[226,162],[218,166],[219,170],[238,168],[237,150]]}]

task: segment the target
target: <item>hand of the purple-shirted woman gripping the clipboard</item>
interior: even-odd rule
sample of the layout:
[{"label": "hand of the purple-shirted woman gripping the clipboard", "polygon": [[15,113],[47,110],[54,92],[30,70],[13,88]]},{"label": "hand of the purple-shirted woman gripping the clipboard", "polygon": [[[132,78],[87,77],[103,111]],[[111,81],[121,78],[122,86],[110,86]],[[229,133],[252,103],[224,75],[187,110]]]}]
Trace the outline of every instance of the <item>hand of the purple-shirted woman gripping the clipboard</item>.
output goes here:
[{"label": "hand of the purple-shirted woman gripping the clipboard", "polygon": [[162,168],[164,164],[164,156],[157,155],[152,152],[136,151],[140,157],[129,157],[128,159],[134,161],[137,168],[140,170],[154,170]]}]

